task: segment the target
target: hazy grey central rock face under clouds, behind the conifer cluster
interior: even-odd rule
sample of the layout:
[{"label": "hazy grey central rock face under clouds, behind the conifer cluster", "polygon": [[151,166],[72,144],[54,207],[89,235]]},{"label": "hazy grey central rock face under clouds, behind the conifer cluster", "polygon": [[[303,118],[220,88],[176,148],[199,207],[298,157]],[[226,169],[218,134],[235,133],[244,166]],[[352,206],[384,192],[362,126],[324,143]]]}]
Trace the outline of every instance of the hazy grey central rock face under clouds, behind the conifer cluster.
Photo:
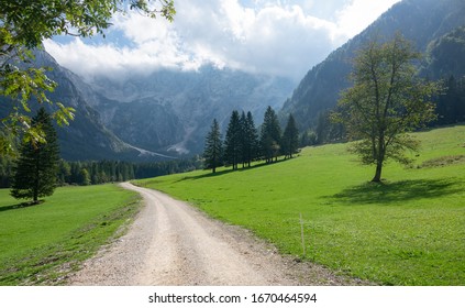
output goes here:
[{"label": "hazy grey central rock face under clouds, behind the conifer cluster", "polygon": [[295,84],[228,68],[159,70],[124,80],[98,78],[89,100],[102,123],[136,147],[169,156],[201,153],[213,119],[225,130],[232,110],[251,111],[257,123],[267,106],[279,110]]}]

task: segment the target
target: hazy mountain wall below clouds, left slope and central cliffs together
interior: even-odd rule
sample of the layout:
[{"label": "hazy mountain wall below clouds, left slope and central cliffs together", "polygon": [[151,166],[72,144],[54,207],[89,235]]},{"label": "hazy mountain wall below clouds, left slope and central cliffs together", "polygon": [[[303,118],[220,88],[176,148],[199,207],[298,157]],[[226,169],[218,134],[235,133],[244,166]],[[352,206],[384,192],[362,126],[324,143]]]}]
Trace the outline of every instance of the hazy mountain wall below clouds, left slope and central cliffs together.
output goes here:
[{"label": "hazy mountain wall below clouds, left slope and central cliffs together", "polygon": [[[57,128],[62,156],[70,161],[199,154],[214,118],[225,130],[237,109],[252,111],[258,123],[266,107],[279,110],[295,87],[287,79],[212,66],[85,82],[44,51],[36,52],[35,62],[53,69],[48,77],[58,87],[51,100],[76,109],[69,127]],[[0,117],[9,112],[7,106],[0,106]]]}]

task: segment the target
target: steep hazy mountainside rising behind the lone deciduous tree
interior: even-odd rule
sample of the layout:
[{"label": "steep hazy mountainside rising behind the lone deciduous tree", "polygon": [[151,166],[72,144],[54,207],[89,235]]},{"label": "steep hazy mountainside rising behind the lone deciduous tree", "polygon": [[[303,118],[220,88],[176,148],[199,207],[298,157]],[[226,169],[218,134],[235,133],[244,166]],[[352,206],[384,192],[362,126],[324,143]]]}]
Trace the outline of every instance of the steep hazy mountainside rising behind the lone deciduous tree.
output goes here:
[{"label": "steep hazy mountainside rising behind the lone deciduous tree", "polygon": [[[352,70],[351,59],[373,37],[387,40],[400,32],[413,42],[418,51],[433,57],[430,57],[430,62],[422,63],[423,72],[434,77],[444,75],[446,72],[439,73],[444,67],[433,67],[438,64],[434,58],[461,62],[463,52],[460,54],[460,50],[450,47],[447,54],[440,56],[434,51],[439,51],[439,45],[444,51],[451,40],[443,37],[465,25],[464,16],[463,0],[403,0],[395,4],[365,31],[310,69],[292,96],[286,100],[280,112],[281,118],[292,113],[301,130],[314,127],[319,114],[332,109],[337,102],[340,91],[350,86],[347,76]],[[455,63],[450,63],[450,66],[457,67]]]}]

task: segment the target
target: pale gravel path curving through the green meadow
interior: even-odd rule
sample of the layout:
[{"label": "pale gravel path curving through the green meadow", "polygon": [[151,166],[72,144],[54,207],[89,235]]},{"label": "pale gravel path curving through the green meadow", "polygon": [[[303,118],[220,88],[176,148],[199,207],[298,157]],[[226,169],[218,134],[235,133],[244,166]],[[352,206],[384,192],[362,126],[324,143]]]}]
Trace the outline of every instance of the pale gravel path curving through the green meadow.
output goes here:
[{"label": "pale gravel path curving through the green meadow", "polygon": [[280,256],[248,231],[208,218],[152,189],[129,232],[81,271],[69,285],[357,285],[328,270]]}]

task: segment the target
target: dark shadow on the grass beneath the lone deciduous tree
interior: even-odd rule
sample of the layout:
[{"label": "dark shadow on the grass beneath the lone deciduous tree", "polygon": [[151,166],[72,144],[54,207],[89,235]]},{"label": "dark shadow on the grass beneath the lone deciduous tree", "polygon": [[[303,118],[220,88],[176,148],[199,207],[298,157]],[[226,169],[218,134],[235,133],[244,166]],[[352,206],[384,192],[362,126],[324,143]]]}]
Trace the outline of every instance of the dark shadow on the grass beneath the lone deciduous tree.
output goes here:
[{"label": "dark shadow on the grass beneath the lone deciduous tree", "polygon": [[438,198],[462,191],[463,187],[460,180],[454,178],[410,179],[395,183],[366,183],[346,188],[326,198],[350,205],[385,205],[413,199]]}]

